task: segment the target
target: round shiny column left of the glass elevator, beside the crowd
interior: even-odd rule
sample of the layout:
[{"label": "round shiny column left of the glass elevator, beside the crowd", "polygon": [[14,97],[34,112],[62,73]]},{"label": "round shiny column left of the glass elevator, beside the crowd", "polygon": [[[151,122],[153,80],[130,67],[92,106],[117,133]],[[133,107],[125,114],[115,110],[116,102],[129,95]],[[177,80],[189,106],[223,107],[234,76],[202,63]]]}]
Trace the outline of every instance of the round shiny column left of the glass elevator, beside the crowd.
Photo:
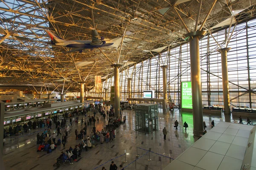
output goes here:
[{"label": "round shiny column left of the glass elevator, beside the crowd", "polygon": [[122,65],[113,64],[114,68],[114,86],[115,86],[115,116],[120,117],[120,83],[119,83],[119,67]]}]

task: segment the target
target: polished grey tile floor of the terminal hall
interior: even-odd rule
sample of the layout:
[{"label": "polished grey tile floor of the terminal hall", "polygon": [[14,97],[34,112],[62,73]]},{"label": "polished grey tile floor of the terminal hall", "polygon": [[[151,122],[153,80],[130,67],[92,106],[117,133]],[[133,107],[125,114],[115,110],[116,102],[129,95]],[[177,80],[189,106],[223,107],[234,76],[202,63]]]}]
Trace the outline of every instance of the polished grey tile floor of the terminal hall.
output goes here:
[{"label": "polished grey tile floor of the terminal hall", "polygon": [[[183,153],[189,146],[194,144],[197,137],[194,137],[192,133],[192,113],[180,113],[179,110],[175,110],[172,113],[161,113],[162,111],[159,111],[159,130],[146,134],[135,131],[134,111],[124,110],[122,114],[127,117],[127,122],[125,126],[121,125],[116,129],[116,140],[104,144],[96,142],[96,146],[89,149],[88,152],[83,151],[82,156],[77,162],[74,162],[73,165],[68,164],[67,166],[62,165],[61,167],[53,167],[53,164],[55,164],[55,160],[60,155],[61,151],[68,149],[70,146],[74,147],[80,142],[80,140],[75,139],[75,129],[80,131],[81,123],[73,125],[70,130],[71,133],[67,138],[66,147],[64,148],[62,145],[58,146],[58,148],[50,154],[47,154],[47,152],[36,152],[38,145],[35,142],[34,134],[32,132],[31,134],[26,134],[27,136],[25,137],[20,137],[19,142],[17,142],[17,140],[13,142],[12,139],[9,141],[7,138],[3,150],[4,164],[8,170],[38,170],[45,168],[47,168],[47,170],[68,170],[70,168],[74,170],[93,170],[94,168],[99,167],[99,165],[119,156],[113,161],[118,167],[119,164],[123,164],[124,167],[128,165],[125,170],[162,170],[170,162],[170,159],[164,156],[173,159],[177,158],[177,156]],[[175,120],[181,125],[178,127],[177,131],[173,127]],[[212,120],[215,121],[215,124],[224,121],[223,116],[204,115],[207,129],[209,129],[209,124]],[[231,120],[238,120],[238,117],[236,117],[236,119],[231,117]],[[186,132],[184,132],[183,127],[183,122],[185,121],[189,125]],[[101,130],[106,123],[107,119],[104,120],[101,117],[99,122],[96,122],[96,130]],[[87,127],[87,134],[90,133],[92,127],[93,126]],[[163,127],[166,127],[168,131],[166,136],[167,140],[163,140]],[[214,134],[212,137],[214,138]],[[226,139],[224,138],[223,140]],[[137,147],[145,150],[140,148],[137,149]],[[127,163],[123,163],[123,161],[125,161],[125,150],[127,153]],[[147,153],[146,150],[151,150],[154,153]],[[133,161],[136,159],[137,152],[140,159],[137,159],[135,163]],[[163,156],[155,153],[159,153]],[[149,156],[151,161],[148,161]],[[103,166],[108,170],[110,164],[111,162],[108,162]],[[101,170],[102,166],[96,169]]]}]

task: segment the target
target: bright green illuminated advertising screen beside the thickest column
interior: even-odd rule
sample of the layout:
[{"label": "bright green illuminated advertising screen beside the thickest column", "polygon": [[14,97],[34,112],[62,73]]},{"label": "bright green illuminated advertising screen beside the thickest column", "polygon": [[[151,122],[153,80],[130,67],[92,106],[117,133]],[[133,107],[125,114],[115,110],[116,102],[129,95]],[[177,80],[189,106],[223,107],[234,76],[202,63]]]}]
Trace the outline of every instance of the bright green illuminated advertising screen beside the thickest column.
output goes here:
[{"label": "bright green illuminated advertising screen beside the thickest column", "polygon": [[181,82],[181,108],[192,109],[191,82]]}]

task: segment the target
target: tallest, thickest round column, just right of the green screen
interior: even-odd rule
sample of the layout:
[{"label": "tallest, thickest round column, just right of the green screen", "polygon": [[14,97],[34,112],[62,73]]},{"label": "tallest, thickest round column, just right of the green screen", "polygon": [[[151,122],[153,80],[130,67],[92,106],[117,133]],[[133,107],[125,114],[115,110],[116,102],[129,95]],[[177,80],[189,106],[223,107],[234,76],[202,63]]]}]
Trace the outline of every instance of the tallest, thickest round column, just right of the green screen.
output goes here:
[{"label": "tallest, thickest round column, just right of the green screen", "polygon": [[195,136],[200,136],[204,132],[199,40],[206,34],[206,31],[194,31],[184,35],[186,40],[189,40],[190,45],[193,133]]}]

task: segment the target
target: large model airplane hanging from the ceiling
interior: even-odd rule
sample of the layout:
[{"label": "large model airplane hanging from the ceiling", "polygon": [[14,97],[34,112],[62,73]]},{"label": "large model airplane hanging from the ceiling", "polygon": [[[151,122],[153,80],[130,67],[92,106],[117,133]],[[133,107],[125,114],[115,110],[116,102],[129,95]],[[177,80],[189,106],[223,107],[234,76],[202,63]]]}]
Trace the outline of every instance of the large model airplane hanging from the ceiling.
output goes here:
[{"label": "large model airplane hanging from the ceiling", "polygon": [[92,40],[64,40],[61,37],[53,34],[49,30],[45,30],[49,37],[51,38],[50,44],[52,45],[59,45],[63,47],[70,47],[70,48],[78,48],[71,51],[65,51],[64,53],[79,51],[82,53],[84,49],[91,50],[93,48],[100,48],[100,47],[118,47],[122,41],[122,37],[117,37],[112,40],[105,39],[105,37],[99,36],[96,29],[92,30]]}]

